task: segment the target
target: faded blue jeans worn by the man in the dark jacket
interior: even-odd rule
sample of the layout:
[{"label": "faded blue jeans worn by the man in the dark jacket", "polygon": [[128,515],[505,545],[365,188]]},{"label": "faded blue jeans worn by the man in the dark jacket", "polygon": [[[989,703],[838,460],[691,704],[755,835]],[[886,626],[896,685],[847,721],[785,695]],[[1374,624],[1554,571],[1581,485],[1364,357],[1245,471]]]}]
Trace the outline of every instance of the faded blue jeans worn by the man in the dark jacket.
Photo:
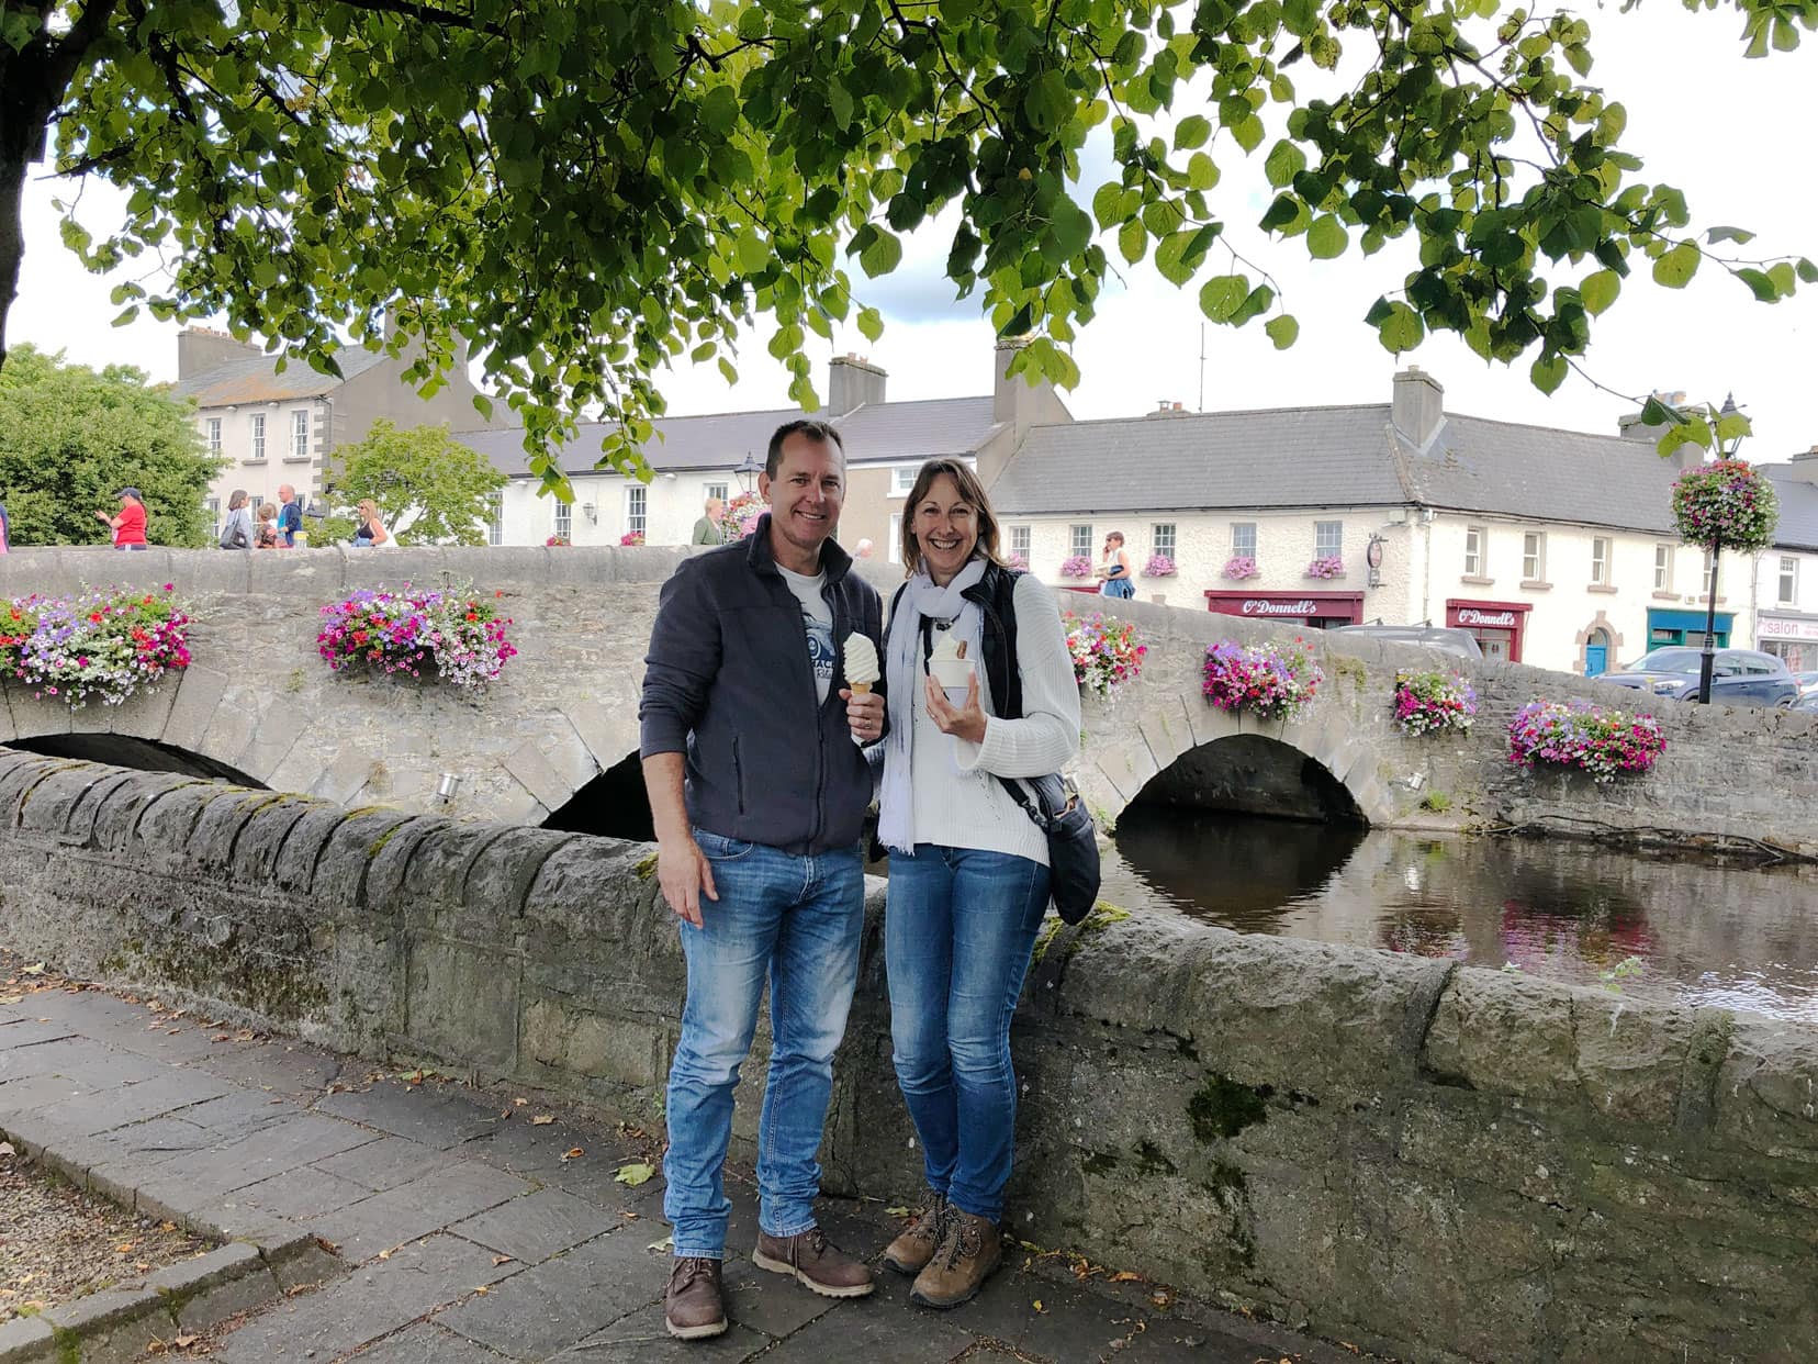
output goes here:
[{"label": "faded blue jeans worn by the man in the dark jacket", "polygon": [[702,897],[702,926],[680,920],[687,957],[682,1040],[669,1064],[669,1155],[664,1217],[674,1253],[725,1253],[725,1148],[733,1089],[751,1053],[758,998],[771,986],[771,1069],[758,1117],[758,1226],[796,1237],[814,1226],[822,1129],[833,1097],[833,1053],[858,984],[865,873],[858,844],[796,857],[694,829],[718,900]]}]

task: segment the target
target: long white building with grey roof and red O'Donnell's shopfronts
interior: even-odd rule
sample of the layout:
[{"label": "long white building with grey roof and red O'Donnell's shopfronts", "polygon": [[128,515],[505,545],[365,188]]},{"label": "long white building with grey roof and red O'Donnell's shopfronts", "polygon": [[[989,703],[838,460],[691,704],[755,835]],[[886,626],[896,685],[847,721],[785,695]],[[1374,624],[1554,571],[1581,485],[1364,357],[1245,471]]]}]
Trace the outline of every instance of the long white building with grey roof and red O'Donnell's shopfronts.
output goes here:
[{"label": "long white building with grey roof and red O'Donnell's shopfronts", "polygon": [[[1705,560],[1673,529],[1682,464],[1658,435],[1447,413],[1438,382],[1407,369],[1385,404],[1042,426],[991,493],[1051,582],[1116,529],[1151,600],[1311,627],[1460,626],[1489,657],[1602,673],[1703,629]],[[1174,577],[1144,575],[1156,553]],[[1256,577],[1225,577],[1233,558]],[[1342,569],[1313,577],[1322,558]],[[1718,638],[1753,642],[1749,573],[1725,582],[1742,589],[1720,586]]]}]

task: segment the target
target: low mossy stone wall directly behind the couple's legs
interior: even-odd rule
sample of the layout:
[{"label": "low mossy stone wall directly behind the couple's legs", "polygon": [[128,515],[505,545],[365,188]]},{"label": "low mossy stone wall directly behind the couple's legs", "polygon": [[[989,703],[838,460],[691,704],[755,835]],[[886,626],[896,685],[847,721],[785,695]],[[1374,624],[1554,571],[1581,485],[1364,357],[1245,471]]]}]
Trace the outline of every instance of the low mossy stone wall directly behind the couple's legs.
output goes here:
[{"label": "low mossy stone wall directly behind the couple's legs", "polygon": [[[682,997],[651,871],[0,753],[7,946],[644,1120]],[[904,1200],[880,911],[874,882],[824,1160]],[[1409,1360],[1818,1353],[1818,1029],[1136,917],[1045,944],[1016,1057],[1031,1242]]]}]

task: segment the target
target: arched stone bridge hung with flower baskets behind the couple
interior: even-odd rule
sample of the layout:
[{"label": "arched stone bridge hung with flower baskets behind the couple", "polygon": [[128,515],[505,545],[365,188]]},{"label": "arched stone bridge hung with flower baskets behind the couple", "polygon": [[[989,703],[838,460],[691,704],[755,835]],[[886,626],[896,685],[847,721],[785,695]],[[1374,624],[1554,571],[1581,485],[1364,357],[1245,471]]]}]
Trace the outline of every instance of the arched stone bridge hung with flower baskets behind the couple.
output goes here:
[{"label": "arched stone bridge hung with flower baskets behind the couple", "polygon": [[[176,584],[193,602],[193,666],[120,707],[69,711],[0,686],[0,742],[38,753],[509,824],[647,837],[636,697],[656,589],[673,549],[342,547],[285,555],[20,551],[0,595],[84,584]],[[871,566],[889,591],[894,569]],[[362,586],[471,580],[498,593],[520,655],[484,702],[449,687],[335,675],[316,657],[318,607]],[[1073,606],[1089,604],[1069,598]],[[1465,671],[1480,697],[1469,737],[1407,738],[1391,720],[1394,671],[1423,649],[1314,637],[1325,684],[1294,722],[1233,718],[1205,704],[1200,669],[1218,638],[1291,627],[1142,602],[1116,604],[1149,646],[1140,682],[1087,702],[1078,780],[1102,818],[1162,800],[1374,826],[1536,826],[1636,837],[1763,840],[1818,853],[1818,809],[1787,798],[1818,780],[1814,720],[1780,711],[1662,704],[1667,755],[1653,775],[1598,787],[1533,775],[1505,757],[1509,717],[1534,697],[1636,695],[1520,664]],[[436,798],[444,773],[460,778]]]}]

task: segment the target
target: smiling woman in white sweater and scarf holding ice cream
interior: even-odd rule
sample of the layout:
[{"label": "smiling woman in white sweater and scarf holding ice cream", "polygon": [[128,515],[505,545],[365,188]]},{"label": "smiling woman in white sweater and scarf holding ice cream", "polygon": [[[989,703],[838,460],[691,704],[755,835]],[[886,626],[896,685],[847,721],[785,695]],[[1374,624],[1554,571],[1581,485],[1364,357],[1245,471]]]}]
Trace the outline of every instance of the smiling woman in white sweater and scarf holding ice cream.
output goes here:
[{"label": "smiling woman in white sweater and scarf holding ice cream", "polygon": [[[884,642],[891,727],[878,835],[891,847],[896,1080],[931,1202],[884,1260],[916,1275],[916,1302],[953,1308],[1002,1255],[1016,1137],[1011,1015],[1047,911],[1047,840],[1000,778],[1042,777],[1073,757],[1080,687],[1054,597],[1004,566],[973,471],[929,460],[905,507],[909,582]],[[944,655],[947,640],[964,644],[974,664],[964,704],[929,673],[936,640]]]}]

